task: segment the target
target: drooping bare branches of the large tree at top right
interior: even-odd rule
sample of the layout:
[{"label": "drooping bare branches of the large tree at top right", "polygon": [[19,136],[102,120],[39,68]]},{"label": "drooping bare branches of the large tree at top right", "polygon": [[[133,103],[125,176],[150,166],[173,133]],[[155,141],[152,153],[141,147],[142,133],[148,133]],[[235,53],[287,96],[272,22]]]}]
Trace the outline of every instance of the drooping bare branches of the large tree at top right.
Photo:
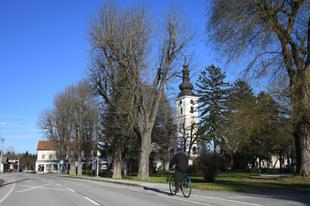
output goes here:
[{"label": "drooping bare branches of the large tree at top right", "polygon": [[[228,60],[239,58],[242,54],[251,57],[247,71],[256,67],[262,69],[261,74],[275,73],[273,70],[278,67],[274,66],[273,51],[282,50],[276,62],[285,63],[292,79],[297,71],[305,68],[307,55],[304,42],[307,42],[307,35],[304,20],[309,18],[309,12],[304,8],[305,2],[233,0],[227,3],[217,0],[213,3],[207,29],[216,45],[228,54]],[[269,63],[266,59],[270,60]]]}]

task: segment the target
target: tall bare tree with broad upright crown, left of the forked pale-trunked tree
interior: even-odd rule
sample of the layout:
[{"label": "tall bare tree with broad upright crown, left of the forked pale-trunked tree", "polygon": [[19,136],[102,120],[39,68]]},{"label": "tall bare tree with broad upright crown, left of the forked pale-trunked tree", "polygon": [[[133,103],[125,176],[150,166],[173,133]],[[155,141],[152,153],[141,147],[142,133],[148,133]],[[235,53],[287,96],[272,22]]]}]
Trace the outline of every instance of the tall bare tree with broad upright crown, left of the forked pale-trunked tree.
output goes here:
[{"label": "tall bare tree with broad upright crown, left of the forked pale-trunked tree", "polygon": [[150,33],[143,9],[123,11],[112,4],[103,7],[91,27],[89,76],[105,107],[106,137],[113,143],[114,178],[121,178],[126,130],[135,122],[134,92],[146,66]]}]

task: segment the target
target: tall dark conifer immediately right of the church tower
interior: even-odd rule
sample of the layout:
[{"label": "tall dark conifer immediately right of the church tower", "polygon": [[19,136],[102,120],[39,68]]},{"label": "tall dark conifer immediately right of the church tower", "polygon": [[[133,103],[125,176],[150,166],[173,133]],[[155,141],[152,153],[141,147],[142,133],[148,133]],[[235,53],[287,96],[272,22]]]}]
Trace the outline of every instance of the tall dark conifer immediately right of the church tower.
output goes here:
[{"label": "tall dark conifer immediately right of the church tower", "polygon": [[214,152],[223,142],[220,130],[226,114],[226,100],[229,84],[224,81],[225,73],[219,67],[206,67],[197,82],[199,96],[200,127],[199,135],[206,143],[213,144]]}]

